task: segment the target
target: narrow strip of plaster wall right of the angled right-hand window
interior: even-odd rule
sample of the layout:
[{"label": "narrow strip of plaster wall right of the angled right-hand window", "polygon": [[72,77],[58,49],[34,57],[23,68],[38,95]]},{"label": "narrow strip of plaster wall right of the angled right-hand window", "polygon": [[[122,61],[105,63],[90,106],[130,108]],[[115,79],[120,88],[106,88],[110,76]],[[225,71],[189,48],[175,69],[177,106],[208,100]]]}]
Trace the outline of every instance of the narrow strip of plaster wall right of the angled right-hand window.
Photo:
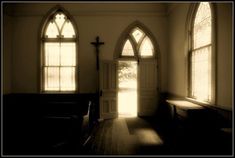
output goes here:
[{"label": "narrow strip of plaster wall right of the angled right-hand window", "polygon": [[232,21],[234,17],[231,3],[218,5],[217,16],[217,103],[226,109],[232,109],[234,88],[232,78],[234,26]]}]

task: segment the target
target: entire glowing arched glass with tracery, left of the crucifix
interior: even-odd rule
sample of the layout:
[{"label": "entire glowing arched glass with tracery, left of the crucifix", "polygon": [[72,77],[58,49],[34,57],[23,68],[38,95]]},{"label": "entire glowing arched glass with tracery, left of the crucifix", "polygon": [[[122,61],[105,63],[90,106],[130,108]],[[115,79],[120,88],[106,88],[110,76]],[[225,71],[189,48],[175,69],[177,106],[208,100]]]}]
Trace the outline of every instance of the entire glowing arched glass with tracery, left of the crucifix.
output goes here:
[{"label": "entire glowing arched glass with tracery, left of the crucifix", "polygon": [[48,20],[42,44],[43,91],[76,91],[76,34],[61,10]]}]

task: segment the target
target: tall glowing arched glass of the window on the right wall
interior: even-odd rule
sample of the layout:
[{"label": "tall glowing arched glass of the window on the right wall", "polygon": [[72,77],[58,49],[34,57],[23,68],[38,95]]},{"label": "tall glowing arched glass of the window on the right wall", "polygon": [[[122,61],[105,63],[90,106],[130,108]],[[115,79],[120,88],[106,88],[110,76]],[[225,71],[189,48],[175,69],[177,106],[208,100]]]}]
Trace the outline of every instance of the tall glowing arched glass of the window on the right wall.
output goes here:
[{"label": "tall glowing arched glass of the window on the right wall", "polygon": [[191,97],[212,100],[212,17],[208,2],[198,6],[193,23],[191,53]]}]

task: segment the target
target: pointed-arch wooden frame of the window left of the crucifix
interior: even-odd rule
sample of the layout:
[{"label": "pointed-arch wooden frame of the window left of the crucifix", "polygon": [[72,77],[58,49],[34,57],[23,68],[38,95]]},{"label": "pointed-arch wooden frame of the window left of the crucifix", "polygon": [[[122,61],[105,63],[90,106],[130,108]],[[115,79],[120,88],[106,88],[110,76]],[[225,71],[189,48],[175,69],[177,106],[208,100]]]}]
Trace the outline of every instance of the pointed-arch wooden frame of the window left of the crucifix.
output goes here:
[{"label": "pointed-arch wooden frame of the window left of the crucifix", "polygon": [[[59,30],[58,26],[56,25],[57,27],[57,30],[58,30],[58,33],[59,35],[54,38],[54,37],[48,37],[46,36],[46,31],[47,31],[47,27],[48,25],[50,24],[51,20],[53,20],[54,16],[57,14],[57,13],[62,13],[64,14],[67,19],[66,20],[69,20],[70,23],[72,24],[73,26],[73,29],[74,29],[74,33],[75,33],[75,36],[73,37],[63,37],[61,36],[61,32],[63,30],[63,27],[66,23],[66,20],[65,22],[63,23],[63,25],[61,26],[61,30]],[[54,8],[52,8],[48,14],[43,18],[42,20],[42,24],[41,24],[41,29],[40,29],[40,84],[39,84],[39,89],[40,89],[40,92],[41,93],[77,93],[79,91],[79,82],[78,82],[78,76],[79,76],[79,71],[78,71],[78,29],[77,29],[77,25],[75,23],[75,20],[72,18],[72,16],[61,6],[56,6]],[[61,32],[60,32],[61,31]],[[46,58],[45,58],[45,44],[46,43],[74,43],[75,45],[75,65],[73,65],[74,67],[74,84],[75,84],[75,89],[74,90],[62,90],[62,88],[60,87],[59,90],[46,90],[45,88],[45,82],[46,82],[46,79],[45,79],[45,72],[44,72],[44,67],[46,65]],[[59,77],[61,80],[61,77]],[[60,85],[61,86],[61,83]]]}]

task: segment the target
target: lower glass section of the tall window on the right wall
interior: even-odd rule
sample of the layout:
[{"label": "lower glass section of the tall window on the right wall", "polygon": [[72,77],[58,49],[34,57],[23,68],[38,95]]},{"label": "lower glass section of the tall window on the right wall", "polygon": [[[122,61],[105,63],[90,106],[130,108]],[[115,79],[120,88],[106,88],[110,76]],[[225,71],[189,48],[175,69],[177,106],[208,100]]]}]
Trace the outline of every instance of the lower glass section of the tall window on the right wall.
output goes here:
[{"label": "lower glass section of the tall window on the right wall", "polygon": [[192,53],[192,95],[201,101],[211,99],[211,46]]}]

